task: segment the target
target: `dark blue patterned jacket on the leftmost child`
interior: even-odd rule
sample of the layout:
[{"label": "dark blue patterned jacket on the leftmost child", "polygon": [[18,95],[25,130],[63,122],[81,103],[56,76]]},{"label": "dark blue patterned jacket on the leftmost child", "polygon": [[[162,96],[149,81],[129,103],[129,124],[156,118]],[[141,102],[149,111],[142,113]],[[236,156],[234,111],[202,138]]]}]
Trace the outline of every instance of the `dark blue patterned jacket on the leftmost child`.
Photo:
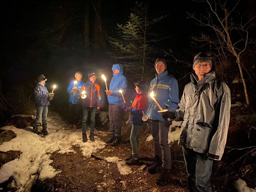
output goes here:
[{"label": "dark blue patterned jacket on the leftmost child", "polygon": [[50,105],[50,100],[47,98],[47,94],[49,94],[47,88],[44,85],[37,83],[34,89],[36,107]]}]

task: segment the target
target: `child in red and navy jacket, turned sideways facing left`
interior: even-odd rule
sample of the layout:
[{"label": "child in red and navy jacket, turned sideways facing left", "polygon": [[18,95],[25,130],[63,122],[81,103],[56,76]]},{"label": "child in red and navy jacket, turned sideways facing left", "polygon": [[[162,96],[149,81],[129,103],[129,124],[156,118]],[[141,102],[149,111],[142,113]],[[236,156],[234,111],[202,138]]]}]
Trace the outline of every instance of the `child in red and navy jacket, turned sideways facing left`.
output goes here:
[{"label": "child in red and navy jacket, turned sideways facing left", "polygon": [[138,159],[138,144],[139,144],[139,131],[143,124],[142,111],[145,110],[148,102],[148,89],[149,86],[145,81],[138,81],[135,84],[135,90],[137,92],[135,99],[132,102],[132,107],[129,107],[129,103],[124,103],[124,111],[130,112],[129,123],[132,124],[132,131],[130,135],[130,141],[132,145],[132,155],[127,157],[126,164],[134,165],[139,163]]}]

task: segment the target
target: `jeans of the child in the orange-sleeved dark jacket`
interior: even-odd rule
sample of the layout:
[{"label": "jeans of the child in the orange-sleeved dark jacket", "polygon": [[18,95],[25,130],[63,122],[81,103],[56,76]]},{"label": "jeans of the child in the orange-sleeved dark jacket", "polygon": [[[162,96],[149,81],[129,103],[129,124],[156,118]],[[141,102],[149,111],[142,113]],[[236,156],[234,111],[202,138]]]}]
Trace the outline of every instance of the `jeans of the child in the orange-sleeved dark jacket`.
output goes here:
[{"label": "jeans of the child in the orange-sleeved dark jacket", "polygon": [[86,124],[88,113],[91,111],[91,132],[94,132],[95,128],[95,114],[96,114],[96,107],[83,107],[83,119],[82,119],[82,132],[86,132]]}]

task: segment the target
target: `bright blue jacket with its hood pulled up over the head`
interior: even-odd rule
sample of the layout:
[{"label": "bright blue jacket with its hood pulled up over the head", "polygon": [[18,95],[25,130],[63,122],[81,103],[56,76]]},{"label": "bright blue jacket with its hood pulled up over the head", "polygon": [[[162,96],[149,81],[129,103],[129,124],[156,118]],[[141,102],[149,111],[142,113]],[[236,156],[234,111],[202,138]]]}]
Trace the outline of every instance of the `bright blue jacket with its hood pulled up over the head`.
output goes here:
[{"label": "bright blue jacket with its hood pulled up over the head", "polygon": [[112,70],[118,69],[119,73],[114,75],[109,84],[109,91],[112,91],[112,95],[108,95],[108,103],[113,105],[123,105],[124,100],[119,90],[122,90],[123,94],[126,92],[127,79],[123,75],[122,64],[114,64]]}]

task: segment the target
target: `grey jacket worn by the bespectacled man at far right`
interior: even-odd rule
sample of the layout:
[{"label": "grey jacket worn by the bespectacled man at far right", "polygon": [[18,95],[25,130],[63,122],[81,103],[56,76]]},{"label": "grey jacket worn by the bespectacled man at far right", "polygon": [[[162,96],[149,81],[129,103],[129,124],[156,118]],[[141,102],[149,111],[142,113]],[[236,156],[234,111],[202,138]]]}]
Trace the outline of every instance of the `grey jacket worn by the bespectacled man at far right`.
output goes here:
[{"label": "grey jacket worn by the bespectacled man at far right", "polygon": [[175,121],[182,121],[179,144],[220,160],[228,134],[230,90],[215,72],[197,82],[193,75],[179,103]]}]

